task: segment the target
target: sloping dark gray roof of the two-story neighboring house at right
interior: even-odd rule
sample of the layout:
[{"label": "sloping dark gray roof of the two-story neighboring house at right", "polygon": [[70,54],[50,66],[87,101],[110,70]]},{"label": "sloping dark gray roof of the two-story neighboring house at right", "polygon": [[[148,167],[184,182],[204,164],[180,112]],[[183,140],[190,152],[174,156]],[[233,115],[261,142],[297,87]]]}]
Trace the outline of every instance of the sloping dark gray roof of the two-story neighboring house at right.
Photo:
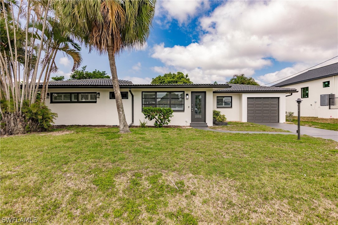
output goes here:
[{"label": "sloping dark gray roof of the two-story neighboring house at right", "polygon": [[311,69],[303,74],[282,81],[278,84],[272,85],[273,87],[283,87],[290,84],[297,84],[305,81],[316,80],[324,77],[331,77],[338,75],[338,62],[331,65],[323,66],[317,69]]}]

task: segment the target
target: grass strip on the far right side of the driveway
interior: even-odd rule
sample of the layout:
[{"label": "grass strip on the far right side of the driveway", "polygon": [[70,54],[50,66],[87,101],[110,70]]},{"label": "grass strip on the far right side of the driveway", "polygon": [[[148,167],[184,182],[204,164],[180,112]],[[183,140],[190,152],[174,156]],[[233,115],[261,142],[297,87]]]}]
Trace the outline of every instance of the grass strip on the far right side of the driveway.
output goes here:
[{"label": "grass strip on the far right side of the driveway", "polygon": [[[292,123],[298,124],[297,116],[293,116]],[[325,130],[338,131],[338,119],[335,118],[318,118],[318,117],[300,117],[301,126],[311,126]]]}]

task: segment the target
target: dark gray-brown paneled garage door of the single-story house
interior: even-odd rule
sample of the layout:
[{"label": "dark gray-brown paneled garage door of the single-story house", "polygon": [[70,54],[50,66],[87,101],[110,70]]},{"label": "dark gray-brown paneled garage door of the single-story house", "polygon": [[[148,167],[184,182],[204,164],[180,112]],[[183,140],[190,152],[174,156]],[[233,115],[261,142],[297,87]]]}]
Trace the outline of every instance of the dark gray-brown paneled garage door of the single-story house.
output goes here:
[{"label": "dark gray-brown paneled garage door of the single-story house", "polygon": [[277,97],[247,98],[248,122],[279,122],[279,99]]}]

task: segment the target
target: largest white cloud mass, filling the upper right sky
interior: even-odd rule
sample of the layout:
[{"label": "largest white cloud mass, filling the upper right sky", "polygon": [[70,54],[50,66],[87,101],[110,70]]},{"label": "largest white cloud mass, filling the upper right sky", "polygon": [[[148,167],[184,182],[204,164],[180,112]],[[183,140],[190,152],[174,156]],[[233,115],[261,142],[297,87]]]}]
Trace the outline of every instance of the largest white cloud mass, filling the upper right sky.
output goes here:
[{"label": "largest white cloud mass, filling the upper right sky", "polygon": [[[195,7],[190,4],[196,3],[186,2],[183,8]],[[224,82],[239,73],[252,76],[272,65],[269,58],[308,68],[338,55],[337,7],[337,1],[227,1],[199,20],[204,34],[198,43],[155,45],[152,57],[164,68],[188,72],[194,82]],[[177,18],[184,21],[187,16]]]}]

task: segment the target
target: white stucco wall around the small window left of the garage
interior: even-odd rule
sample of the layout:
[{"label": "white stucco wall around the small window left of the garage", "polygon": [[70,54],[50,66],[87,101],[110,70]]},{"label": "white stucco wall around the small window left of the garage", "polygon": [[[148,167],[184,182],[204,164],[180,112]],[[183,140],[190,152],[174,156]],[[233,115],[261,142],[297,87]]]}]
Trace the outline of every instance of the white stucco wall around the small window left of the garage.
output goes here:
[{"label": "white stucco wall around the small window left of the garage", "polygon": [[[241,93],[214,93],[213,109],[225,115],[228,121],[242,121]],[[217,108],[217,96],[232,96],[232,108]]]}]

